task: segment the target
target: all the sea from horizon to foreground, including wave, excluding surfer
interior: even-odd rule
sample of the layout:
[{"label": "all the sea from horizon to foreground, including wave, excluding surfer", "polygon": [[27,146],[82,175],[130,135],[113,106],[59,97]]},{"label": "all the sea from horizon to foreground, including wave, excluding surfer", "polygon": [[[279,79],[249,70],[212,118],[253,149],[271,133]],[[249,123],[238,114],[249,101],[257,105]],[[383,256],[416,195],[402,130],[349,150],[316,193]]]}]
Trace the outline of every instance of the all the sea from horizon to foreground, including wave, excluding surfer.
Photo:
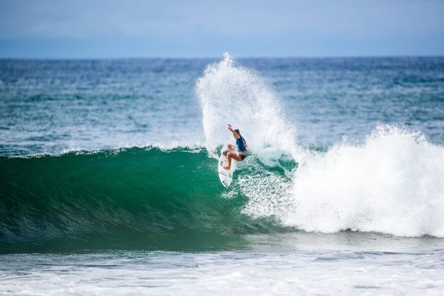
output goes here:
[{"label": "all the sea from horizon to foreground, including wave, excluding surfer", "polygon": [[442,294],[443,130],[439,57],[1,60],[0,293]]}]

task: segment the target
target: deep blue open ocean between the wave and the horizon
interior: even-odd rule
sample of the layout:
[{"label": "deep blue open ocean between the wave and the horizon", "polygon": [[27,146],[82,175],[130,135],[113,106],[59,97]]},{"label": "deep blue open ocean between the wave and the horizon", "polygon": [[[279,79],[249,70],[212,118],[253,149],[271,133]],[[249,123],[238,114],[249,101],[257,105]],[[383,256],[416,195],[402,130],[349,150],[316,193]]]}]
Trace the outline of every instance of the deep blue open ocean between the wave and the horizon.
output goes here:
[{"label": "deep blue open ocean between the wave and the horizon", "polygon": [[[217,61],[1,60],[0,153],[202,146],[196,82]],[[444,58],[255,58],[236,63],[256,72],[280,99],[282,116],[297,128],[299,143],[328,147],[343,136],[362,140],[381,124],[423,132],[432,142],[444,140]],[[245,106],[235,103],[227,102],[227,112],[242,114]]]}]

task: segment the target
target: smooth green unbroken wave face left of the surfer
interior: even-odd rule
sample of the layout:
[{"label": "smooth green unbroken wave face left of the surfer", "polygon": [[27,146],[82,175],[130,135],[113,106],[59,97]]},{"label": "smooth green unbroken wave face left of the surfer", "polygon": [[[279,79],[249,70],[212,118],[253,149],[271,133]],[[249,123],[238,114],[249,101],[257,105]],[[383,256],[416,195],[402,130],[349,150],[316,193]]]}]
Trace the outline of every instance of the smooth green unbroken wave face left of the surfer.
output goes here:
[{"label": "smooth green unbroken wave face left of the surfer", "polygon": [[241,214],[241,193],[224,198],[216,164],[204,149],[2,157],[0,252],[238,249],[286,231]]}]

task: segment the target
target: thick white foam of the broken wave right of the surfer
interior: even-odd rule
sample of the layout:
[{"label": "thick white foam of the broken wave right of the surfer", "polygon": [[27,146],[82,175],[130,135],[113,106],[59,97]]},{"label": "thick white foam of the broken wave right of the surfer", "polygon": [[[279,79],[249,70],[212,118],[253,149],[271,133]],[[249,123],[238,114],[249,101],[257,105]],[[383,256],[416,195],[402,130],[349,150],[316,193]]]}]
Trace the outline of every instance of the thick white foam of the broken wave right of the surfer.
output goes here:
[{"label": "thick white foam of the broken wave right of the surfer", "polygon": [[287,225],[304,230],[444,236],[444,148],[381,125],[363,144],[342,142],[295,173]]}]

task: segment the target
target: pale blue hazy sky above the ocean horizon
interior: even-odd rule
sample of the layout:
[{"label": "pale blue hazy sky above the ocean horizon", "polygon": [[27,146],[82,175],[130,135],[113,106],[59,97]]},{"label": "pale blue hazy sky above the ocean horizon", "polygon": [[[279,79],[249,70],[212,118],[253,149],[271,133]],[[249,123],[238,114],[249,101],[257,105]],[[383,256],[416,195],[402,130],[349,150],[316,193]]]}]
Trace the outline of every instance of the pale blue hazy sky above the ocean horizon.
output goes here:
[{"label": "pale blue hazy sky above the ocean horizon", "polygon": [[443,56],[444,1],[0,0],[0,58]]}]

